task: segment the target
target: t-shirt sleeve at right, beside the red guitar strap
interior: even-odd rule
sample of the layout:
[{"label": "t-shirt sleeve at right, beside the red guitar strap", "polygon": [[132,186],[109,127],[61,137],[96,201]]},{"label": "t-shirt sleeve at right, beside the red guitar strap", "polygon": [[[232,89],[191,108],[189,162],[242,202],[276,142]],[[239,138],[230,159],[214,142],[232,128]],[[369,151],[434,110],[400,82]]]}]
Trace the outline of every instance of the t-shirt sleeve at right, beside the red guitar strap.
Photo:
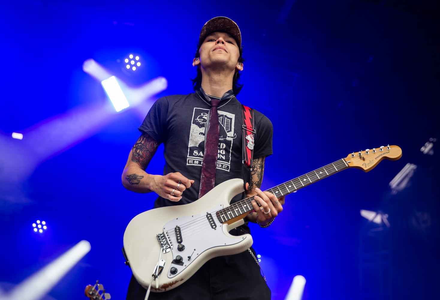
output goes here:
[{"label": "t-shirt sleeve at right, beside the red guitar strap", "polygon": [[261,115],[257,120],[257,134],[255,139],[255,148],[253,150],[253,158],[269,156],[273,153],[272,138],[273,126],[268,117]]}]

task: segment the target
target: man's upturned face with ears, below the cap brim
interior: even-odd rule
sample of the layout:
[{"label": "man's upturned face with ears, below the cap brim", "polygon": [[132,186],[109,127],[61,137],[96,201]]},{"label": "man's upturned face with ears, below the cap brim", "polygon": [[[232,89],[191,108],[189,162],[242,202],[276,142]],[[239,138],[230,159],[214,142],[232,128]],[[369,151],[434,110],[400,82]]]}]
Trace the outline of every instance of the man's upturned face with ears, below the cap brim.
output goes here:
[{"label": "man's upturned face with ears, below the cap brim", "polygon": [[238,64],[240,51],[237,42],[228,33],[209,34],[200,46],[199,54],[200,57],[193,61],[194,66],[200,63],[205,70],[211,67],[242,70],[242,65]]}]

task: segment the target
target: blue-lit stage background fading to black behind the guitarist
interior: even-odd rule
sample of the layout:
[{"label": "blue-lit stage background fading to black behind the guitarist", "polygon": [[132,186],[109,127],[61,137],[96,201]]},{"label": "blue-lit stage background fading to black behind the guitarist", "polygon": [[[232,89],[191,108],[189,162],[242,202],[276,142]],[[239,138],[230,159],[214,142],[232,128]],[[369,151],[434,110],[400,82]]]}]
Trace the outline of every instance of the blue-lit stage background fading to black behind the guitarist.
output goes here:
[{"label": "blue-lit stage background fading to black behind the guitarist", "polygon": [[[85,299],[96,279],[112,299],[125,299],[125,226],[156,196],[125,190],[121,172],[151,102],[109,113],[100,82],[82,64],[95,59],[132,87],[165,77],[168,88],[152,100],[191,93],[200,29],[225,15],[243,37],[238,99],[274,125],[265,189],[366,148],[403,151],[369,173],[344,170],[301,189],[269,228],[252,226],[272,298],[284,299],[301,274],[304,300],[439,299],[436,1],[7,2],[0,6],[4,295],[87,240],[91,251],[45,299]],[[131,74],[120,62],[129,53],[143,62]],[[424,154],[429,141],[433,152]],[[161,174],[161,152],[150,173]],[[407,163],[417,168],[393,193],[389,182]],[[361,209],[383,211],[390,227],[369,223]],[[37,219],[48,224],[43,235],[32,231]]]}]

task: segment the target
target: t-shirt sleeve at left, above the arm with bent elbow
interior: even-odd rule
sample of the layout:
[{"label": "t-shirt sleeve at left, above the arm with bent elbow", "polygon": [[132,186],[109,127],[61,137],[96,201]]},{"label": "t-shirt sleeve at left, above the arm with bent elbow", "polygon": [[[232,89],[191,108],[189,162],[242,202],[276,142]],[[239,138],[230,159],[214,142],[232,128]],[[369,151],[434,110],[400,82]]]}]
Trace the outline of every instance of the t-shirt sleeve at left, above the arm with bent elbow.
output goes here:
[{"label": "t-shirt sleeve at left, above the arm with bent elbow", "polygon": [[166,140],[165,125],[167,122],[168,107],[169,102],[167,97],[159,98],[154,102],[141,126],[139,126],[140,132],[147,133],[159,144]]}]

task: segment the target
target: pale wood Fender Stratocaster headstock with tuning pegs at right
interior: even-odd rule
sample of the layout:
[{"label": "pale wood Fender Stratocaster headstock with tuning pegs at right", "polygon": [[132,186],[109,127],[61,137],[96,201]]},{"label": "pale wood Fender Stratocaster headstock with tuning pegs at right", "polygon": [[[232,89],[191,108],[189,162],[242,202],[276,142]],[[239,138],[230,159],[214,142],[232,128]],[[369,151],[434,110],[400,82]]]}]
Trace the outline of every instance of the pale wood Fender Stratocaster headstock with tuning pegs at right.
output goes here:
[{"label": "pale wood Fender Stratocaster headstock with tuning pegs at right", "polygon": [[402,149],[398,146],[381,146],[365,151],[349,154],[345,161],[349,168],[357,168],[368,172],[378,165],[382,159],[397,160],[402,157]]}]

